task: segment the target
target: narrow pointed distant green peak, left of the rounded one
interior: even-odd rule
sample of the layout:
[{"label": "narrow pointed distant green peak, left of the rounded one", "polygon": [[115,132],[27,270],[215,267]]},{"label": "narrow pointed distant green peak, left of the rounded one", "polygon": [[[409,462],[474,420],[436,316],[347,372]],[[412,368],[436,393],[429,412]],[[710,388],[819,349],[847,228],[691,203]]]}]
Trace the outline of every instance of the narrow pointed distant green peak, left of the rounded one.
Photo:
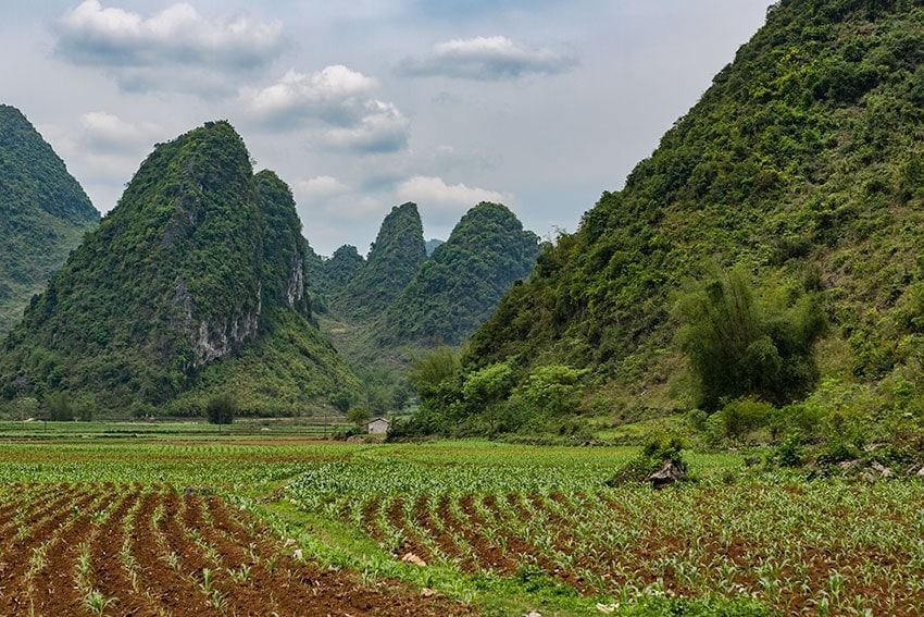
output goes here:
[{"label": "narrow pointed distant green peak, left of the rounded one", "polygon": [[[332,308],[351,320],[373,320],[398,297],[427,258],[416,203],[408,202],[391,209],[382,222],[369,259],[352,273],[348,269],[355,260],[350,260],[350,248],[338,249],[345,255],[344,260],[335,266],[346,268],[332,276],[338,276],[345,285],[332,292]],[[337,279],[330,279],[330,284],[336,282]]]}]

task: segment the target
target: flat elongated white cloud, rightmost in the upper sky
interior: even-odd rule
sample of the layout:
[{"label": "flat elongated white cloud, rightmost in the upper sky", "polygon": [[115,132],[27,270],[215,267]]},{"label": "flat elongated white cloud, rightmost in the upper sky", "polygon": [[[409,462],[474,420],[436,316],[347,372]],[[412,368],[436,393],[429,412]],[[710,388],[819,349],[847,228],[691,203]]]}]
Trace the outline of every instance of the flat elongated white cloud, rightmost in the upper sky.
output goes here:
[{"label": "flat elongated white cloud, rightmost in the upper sky", "polygon": [[398,73],[494,81],[563,73],[576,64],[577,57],[570,51],[530,48],[503,36],[479,36],[437,44],[426,55],[401,61]]}]

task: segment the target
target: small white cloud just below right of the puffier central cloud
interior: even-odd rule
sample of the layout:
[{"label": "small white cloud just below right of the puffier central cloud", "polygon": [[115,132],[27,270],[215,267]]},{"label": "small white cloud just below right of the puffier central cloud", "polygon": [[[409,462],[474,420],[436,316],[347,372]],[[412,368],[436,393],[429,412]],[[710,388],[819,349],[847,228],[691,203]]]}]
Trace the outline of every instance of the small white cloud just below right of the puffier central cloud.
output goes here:
[{"label": "small white cloud just below right of the puffier central cloud", "polygon": [[395,152],[408,145],[410,122],[397,107],[373,100],[366,103],[366,111],[355,125],[328,131],[327,145],[357,153]]}]

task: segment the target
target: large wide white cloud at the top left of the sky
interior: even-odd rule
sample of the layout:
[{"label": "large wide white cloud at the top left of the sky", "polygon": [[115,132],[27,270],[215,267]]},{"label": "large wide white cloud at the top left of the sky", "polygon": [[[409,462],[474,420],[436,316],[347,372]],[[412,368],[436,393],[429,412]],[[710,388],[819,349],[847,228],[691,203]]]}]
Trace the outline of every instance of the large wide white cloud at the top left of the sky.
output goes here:
[{"label": "large wide white cloud at the top left of the sky", "polygon": [[[282,32],[278,21],[259,23],[246,15],[205,17],[187,3],[143,17],[104,8],[99,0],[85,0],[59,20],[55,51],[75,64],[105,67],[123,89],[176,90],[197,82],[188,75],[174,79],[171,69],[179,67],[182,73],[195,70],[214,82],[216,72],[236,73],[269,64],[286,48]],[[220,82],[227,90],[228,83]],[[204,87],[196,91],[202,90]]]}]

